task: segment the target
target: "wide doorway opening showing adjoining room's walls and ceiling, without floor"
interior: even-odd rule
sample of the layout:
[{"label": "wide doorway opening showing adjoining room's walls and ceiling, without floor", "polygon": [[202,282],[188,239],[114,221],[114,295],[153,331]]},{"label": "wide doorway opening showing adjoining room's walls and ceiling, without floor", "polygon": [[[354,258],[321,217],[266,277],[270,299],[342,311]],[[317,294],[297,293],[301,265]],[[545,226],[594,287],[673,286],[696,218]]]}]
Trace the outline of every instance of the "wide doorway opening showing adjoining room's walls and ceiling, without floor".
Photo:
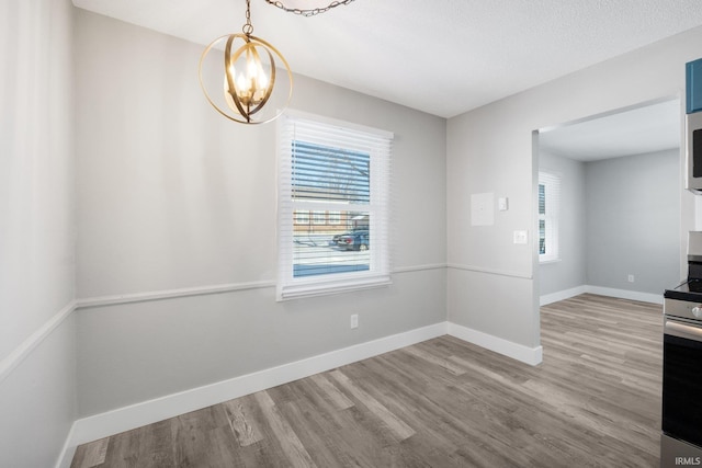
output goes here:
[{"label": "wide doorway opening showing adjoining room's walls and ceiling, without floor", "polygon": [[[684,275],[694,202],[682,189],[682,115],[679,99],[664,99],[535,133],[541,305],[586,292],[661,303]],[[544,178],[558,182],[555,202]]]}]

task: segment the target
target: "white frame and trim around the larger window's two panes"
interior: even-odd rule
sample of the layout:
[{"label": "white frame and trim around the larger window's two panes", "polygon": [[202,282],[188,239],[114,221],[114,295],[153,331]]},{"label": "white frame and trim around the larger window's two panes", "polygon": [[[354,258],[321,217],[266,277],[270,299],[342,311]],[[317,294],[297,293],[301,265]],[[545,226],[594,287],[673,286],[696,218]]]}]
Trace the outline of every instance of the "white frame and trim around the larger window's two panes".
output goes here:
[{"label": "white frame and trim around the larger window's two panes", "polygon": [[[313,130],[310,130],[310,128]],[[298,137],[298,135],[303,135]],[[318,135],[318,136],[317,136]],[[339,137],[342,135],[343,137]],[[359,136],[358,138],[353,138]],[[389,261],[390,158],[394,135],[348,122],[287,110],[278,119],[278,281],[276,300],[337,294],[392,284]],[[292,180],[293,141],[335,144],[338,148],[369,151],[370,202],[359,205],[338,201],[294,199]],[[369,141],[383,141],[380,150]],[[366,271],[297,276],[294,273],[294,226],[296,210],[362,212],[369,215],[371,248]],[[312,220],[312,219],[310,219]]]}]

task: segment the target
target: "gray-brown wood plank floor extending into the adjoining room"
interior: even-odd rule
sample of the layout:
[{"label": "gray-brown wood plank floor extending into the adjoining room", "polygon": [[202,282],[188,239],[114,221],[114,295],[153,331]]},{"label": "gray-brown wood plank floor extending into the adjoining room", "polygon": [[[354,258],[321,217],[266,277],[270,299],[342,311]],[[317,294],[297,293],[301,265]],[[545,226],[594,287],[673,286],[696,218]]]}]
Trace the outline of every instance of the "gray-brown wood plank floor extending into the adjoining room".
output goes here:
[{"label": "gray-brown wood plank floor extending into the adjoining room", "polygon": [[529,366],[442,336],[78,447],[89,467],[656,467],[661,306],[542,308]]}]

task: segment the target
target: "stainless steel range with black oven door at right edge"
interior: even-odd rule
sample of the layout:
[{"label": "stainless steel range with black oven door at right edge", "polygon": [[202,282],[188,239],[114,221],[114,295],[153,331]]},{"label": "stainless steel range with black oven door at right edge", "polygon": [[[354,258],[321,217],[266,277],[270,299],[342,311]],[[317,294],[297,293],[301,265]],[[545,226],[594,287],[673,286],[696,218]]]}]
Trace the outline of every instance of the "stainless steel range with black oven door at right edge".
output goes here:
[{"label": "stainless steel range with black oven door at right edge", "polygon": [[688,279],[664,294],[660,466],[702,466],[702,232],[688,239]]}]

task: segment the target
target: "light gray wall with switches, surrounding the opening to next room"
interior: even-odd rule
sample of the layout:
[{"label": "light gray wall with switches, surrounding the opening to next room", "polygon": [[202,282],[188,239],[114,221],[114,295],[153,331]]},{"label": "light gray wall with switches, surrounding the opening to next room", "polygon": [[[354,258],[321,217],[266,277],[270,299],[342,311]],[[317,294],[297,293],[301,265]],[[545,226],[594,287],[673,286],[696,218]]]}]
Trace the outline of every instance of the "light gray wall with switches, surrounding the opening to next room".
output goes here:
[{"label": "light gray wall with switches, surrounding the opening to next room", "polygon": [[[540,343],[539,259],[533,244],[532,132],[684,92],[684,64],[699,58],[702,27],[453,117],[448,123],[448,307],[450,321],[525,346]],[[471,195],[508,196],[495,226],[471,226]],[[680,189],[680,193],[682,189]],[[682,227],[694,203],[682,196]],[[512,243],[529,230],[532,244]]]}]

